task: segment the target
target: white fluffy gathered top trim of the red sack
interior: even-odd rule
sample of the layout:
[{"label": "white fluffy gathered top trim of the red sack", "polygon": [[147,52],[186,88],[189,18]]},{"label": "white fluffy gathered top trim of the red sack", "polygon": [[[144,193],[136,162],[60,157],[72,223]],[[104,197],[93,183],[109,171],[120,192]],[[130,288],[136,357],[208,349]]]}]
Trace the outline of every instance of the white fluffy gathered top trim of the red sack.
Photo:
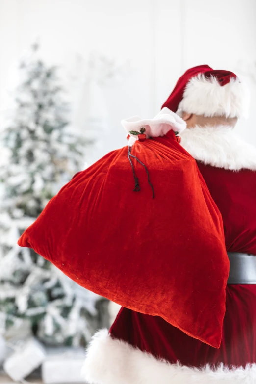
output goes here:
[{"label": "white fluffy gathered top trim of the red sack", "polygon": [[[153,119],[141,119],[138,116],[133,116],[122,120],[121,124],[128,134],[130,134],[130,131],[139,132],[141,128],[145,128],[147,138],[164,136],[171,129],[180,133],[186,128],[186,122],[166,107]],[[131,135],[128,144],[134,144],[137,139],[136,135]]]}]

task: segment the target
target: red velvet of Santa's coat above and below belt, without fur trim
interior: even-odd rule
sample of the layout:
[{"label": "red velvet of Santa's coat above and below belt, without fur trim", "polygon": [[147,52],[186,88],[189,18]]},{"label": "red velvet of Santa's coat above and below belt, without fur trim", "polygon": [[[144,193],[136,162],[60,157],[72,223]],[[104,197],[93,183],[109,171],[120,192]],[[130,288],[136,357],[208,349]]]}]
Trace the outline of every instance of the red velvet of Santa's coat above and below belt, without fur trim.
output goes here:
[{"label": "red velvet of Santa's coat above and below belt, without fur trim", "polygon": [[[233,172],[198,163],[223,217],[229,252],[256,255],[256,172]],[[212,316],[215,313],[212,312]],[[210,321],[210,320],[209,320]],[[110,332],[113,337],[156,357],[185,365],[256,363],[256,285],[228,285],[219,349],[187,336],[154,316],[122,308]]]}]

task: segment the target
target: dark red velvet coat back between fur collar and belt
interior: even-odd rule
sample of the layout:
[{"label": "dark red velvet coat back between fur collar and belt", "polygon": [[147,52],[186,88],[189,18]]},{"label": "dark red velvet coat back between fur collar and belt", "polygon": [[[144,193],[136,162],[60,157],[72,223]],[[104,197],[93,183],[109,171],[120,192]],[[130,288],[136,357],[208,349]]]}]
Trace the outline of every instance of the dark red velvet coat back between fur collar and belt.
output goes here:
[{"label": "dark red velvet coat back between fur collar and belt", "polygon": [[198,166],[221,211],[227,251],[256,255],[256,172]]}]

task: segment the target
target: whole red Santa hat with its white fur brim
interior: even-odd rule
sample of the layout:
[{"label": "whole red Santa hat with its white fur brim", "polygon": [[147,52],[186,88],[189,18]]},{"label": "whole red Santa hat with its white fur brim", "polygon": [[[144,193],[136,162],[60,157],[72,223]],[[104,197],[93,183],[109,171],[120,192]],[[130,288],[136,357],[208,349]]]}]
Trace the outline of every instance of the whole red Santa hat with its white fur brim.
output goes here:
[{"label": "whole red Santa hat with its white fur brim", "polygon": [[239,118],[247,115],[249,93],[233,72],[199,65],[188,69],[179,78],[163,107],[178,114]]}]

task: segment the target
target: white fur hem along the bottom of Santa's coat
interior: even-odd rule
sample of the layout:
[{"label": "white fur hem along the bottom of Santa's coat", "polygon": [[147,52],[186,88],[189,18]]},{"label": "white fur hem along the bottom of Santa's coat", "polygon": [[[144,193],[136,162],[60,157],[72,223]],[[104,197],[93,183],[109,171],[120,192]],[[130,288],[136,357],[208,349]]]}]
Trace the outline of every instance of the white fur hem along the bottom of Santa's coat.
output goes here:
[{"label": "white fur hem along the bottom of Santa's coat", "polygon": [[256,364],[233,369],[170,364],[102,330],[91,341],[82,374],[89,384],[255,384]]}]

